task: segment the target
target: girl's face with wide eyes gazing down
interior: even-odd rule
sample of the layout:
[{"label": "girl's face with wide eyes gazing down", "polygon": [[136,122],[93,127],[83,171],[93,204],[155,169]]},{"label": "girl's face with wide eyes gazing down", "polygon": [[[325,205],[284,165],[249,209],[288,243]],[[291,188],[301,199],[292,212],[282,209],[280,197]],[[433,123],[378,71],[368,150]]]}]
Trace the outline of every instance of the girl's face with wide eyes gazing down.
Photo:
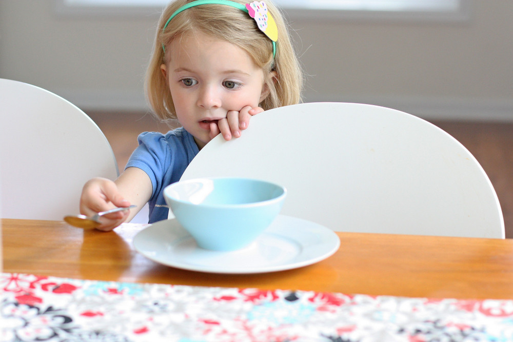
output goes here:
[{"label": "girl's face with wide eyes gazing down", "polygon": [[228,111],[258,107],[268,95],[264,72],[241,48],[204,33],[188,34],[166,46],[167,77],[176,116],[201,149],[210,123]]}]

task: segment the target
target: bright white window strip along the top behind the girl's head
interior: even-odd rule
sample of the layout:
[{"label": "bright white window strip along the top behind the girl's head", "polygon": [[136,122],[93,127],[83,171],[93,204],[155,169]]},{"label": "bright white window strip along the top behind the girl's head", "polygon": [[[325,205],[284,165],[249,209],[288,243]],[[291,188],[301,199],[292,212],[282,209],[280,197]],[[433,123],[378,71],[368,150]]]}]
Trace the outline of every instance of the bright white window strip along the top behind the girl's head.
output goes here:
[{"label": "bright white window strip along the top behind the girl's head", "polygon": [[[158,15],[170,0],[55,0],[56,11],[63,15],[147,16]],[[313,6],[298,6],[298,0],[274,0],[285,15],[294,21],[393,21],[458,22],[470,18],[473,0],[306,0]],[[249,2],[249,0],[248,0]],[[337,2],[341,9],[336,8]],[[451,0],[452,2],[452,0]],[[388,3],[388,6],[383,4]],[[440,7],[433,8],[431,5]],[[427,8],[426,8],[427,6]]]}]

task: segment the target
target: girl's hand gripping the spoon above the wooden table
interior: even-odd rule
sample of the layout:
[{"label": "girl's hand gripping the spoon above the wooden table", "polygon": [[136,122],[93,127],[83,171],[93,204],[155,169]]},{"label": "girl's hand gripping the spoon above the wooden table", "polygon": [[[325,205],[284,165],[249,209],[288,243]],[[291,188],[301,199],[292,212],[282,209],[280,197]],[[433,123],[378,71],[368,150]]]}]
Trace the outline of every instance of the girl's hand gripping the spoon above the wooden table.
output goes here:
[{"label": "girl's hand gripping the spoon above the wooden table", "polygon": [[[93,216],[115,207],[128,206],[130,202],[119,193],[116,184],[110,179],[93,178],[82,189],[80,213],[83,215]],[[123,210],[104,215],[100,218],[102,224],[96,229],[110,231],[125,222],[129,214],[130,210]]]}]

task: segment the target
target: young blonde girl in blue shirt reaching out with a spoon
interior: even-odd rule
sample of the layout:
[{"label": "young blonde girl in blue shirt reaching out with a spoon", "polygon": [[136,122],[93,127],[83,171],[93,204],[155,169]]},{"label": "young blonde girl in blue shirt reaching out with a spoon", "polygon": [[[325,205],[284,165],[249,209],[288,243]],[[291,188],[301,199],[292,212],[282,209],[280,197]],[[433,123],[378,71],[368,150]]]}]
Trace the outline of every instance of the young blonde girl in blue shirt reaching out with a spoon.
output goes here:
[{"label": "young blonde girl in blue shirt reaching out with a spoon", "polygon": [[[145,132],[125,171],[84,186],[80,212],[103,216],[100,230],[127,222],[149,203],[149,223],[168,217],[164,188],[180,180],[215,135],[239,137],[252,115],[297,104],[302,74],[280,12],[270,2],[176,0],[164,10],[146,74],[157,117],[178,120],[167,134]],[[244,157],[244,156],[241,156]]]}]

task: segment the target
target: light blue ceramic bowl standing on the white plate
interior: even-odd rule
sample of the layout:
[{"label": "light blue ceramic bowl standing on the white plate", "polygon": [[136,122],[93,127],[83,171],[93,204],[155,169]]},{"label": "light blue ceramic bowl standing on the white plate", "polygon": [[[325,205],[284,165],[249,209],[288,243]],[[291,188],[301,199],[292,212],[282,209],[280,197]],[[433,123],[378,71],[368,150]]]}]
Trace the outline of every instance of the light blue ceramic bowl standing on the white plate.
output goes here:
[{"label": "light blue ceramic bowl standing on the white plate", "polygon": [[198,178],[164,189],[174,216],[199,247],[233,251],[251,244],[274,220],[287,191],[250,178]]}]

